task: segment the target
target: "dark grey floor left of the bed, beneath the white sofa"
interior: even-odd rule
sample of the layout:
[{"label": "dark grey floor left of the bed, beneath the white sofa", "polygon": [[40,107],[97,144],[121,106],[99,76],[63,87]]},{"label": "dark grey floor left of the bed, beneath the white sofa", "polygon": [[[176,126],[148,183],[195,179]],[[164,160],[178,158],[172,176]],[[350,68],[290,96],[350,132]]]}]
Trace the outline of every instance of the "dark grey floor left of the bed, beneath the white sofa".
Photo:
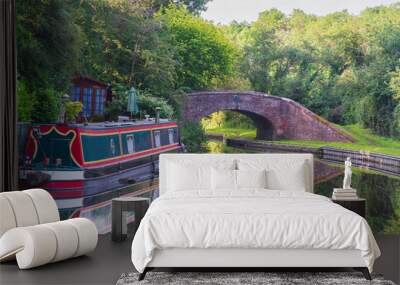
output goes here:
[{"label": "dark grey floor left of the bed, beneath the white sofa", "polygon": [[115,284],[122,273],[135,270],[131,243],[112,242],[110,235],[100,235],[96,250],[88,256],[29,270],[19,270],[16,262],[4,263],[0,265],[0,284]]}]

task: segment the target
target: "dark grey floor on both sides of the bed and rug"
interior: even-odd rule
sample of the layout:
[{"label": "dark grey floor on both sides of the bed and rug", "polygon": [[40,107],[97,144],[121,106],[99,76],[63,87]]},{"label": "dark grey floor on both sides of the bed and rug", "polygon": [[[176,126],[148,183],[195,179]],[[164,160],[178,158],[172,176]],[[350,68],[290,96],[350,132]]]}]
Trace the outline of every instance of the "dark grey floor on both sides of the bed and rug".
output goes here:
[{"label": "dark grey floor on both sides of the bed and rug", "polygon": [[[376,261],[374,271],[399,284],[400,236],[378,236],[377,241],[382,257]],[[0,284],[115,284],[122,273],[135,270],[130,247],[131,240],[115,243],[110,235],[101,235],[96,250],[88,256],[29,270],[19,270],[16,262],[1,264]]]}]

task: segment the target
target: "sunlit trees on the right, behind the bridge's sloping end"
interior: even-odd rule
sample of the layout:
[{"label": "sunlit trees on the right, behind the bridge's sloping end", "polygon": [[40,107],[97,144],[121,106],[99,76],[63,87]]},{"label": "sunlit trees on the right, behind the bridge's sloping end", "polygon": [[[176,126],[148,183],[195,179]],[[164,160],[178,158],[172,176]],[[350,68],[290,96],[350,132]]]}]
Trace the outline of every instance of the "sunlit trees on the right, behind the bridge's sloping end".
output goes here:
[{"label": "sunlit trees on the right, behind the bridge's sloping end", "polygon": [[288,97],[336,123],[400,135],[400,6],[324,17],[276,9],[252,25],[233,23],[241,70],[253,89]]}]

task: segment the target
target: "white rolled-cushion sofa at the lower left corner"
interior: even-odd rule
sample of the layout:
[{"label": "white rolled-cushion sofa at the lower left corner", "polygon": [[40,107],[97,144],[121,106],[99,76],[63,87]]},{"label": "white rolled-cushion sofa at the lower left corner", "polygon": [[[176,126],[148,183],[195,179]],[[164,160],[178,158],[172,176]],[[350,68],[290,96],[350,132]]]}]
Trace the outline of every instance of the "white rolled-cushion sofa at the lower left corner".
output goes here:
[{"label": "white rolled-cushion sofa at the lower left corner", "polygon": [[84,255],[96,248],[98,232],[85,218],[60,221],[57,205],[43,189],[0,193],[0,262],[20,269]]}]

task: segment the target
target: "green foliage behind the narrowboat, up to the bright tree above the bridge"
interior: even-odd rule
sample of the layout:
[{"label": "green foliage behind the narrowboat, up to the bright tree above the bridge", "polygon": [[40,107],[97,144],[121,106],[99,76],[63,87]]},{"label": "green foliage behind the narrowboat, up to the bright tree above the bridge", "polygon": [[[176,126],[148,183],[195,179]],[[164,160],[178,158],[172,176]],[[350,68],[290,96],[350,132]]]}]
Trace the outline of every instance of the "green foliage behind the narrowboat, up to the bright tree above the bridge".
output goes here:
[{"label": "green foliage behind the narrowboat, up to the bright tree above the bridge", "polygon": [[[19,0],[19,119],[54,121],[60,94],[69,91],[74,75],[112,85],[114,98],[107,107],[108,118],[115,119],[125,113],[125,92],[131,86],[142,94],[139,98],[142,114],[154,116],[155,107],[161,107],[163,117],[178,114],[184,93],[181,82],[186,80],[183,75],[196,71],[185,60],[182,47],[175,45],[177,39],[182,39],[176,37],[168,23],[180,23],[181,28],[189,23],[186,29],[190,35],[198,34],[195,40],[199,41],[204,38],[201,48],[206,51],[190,53],[193,62],[200,62],[203,56],[210,57],[201,68],[200,79],[196,79],[203,87],[224,77],[230,68],[230,56],[226,55],[230,52],[228,40],[220,37],[223,35],[218,28],[193,16],[204,10],[207,2]],[[165,10],[168,16],[164,12],[155,14],[162,7],[168,7]],[[195,48],[195,42],[190,44]],[[209,64],[217,57],[221,57],[220,62]]]}]

